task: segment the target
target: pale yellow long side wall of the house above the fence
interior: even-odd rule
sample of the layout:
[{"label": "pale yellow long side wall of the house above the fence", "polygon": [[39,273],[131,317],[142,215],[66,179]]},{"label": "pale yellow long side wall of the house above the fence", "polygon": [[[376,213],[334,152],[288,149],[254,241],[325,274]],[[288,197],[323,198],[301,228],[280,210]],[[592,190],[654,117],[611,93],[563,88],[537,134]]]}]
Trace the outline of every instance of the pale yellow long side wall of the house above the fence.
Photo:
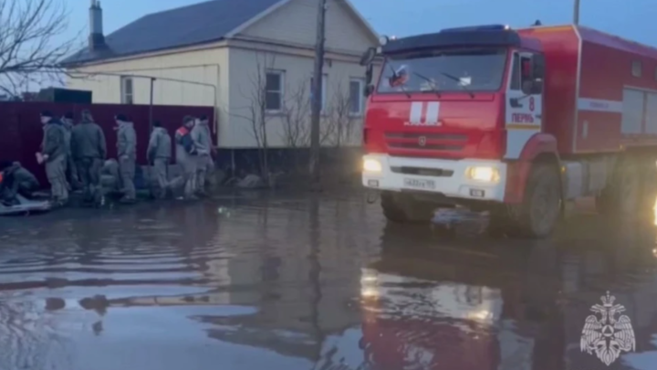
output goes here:
[{"label": "pale yellow long side wall of the house above the fence", "polygon": [[[120,75],[138,75],[142,77],[132,78],[134,104],[150,103],[149,77],[154,77],[156,80],[153,84],[153,104],[228,106],[228,86],[221,81],[221,76],[228,74],[226,48],[206,48],[146,58],[123,59],[89,65],[72,73],[74,78],[68,78],[68,88],[92,91],[94,103],[120,103]],[[218,110],[217,114],[219,122],[226,121],[227,114],[224,111]]]}]

